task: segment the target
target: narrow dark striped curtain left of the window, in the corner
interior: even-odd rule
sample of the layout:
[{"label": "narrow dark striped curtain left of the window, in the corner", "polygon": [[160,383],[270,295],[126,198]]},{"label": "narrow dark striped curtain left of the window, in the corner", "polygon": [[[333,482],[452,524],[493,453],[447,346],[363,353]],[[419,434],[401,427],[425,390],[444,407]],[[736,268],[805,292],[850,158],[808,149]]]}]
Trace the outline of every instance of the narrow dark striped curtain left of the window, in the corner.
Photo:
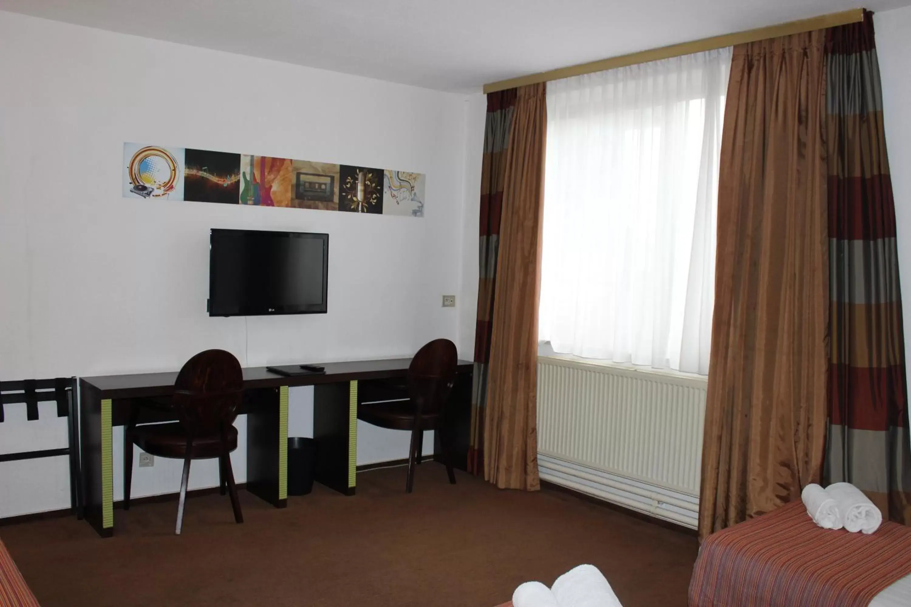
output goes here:
[{"label": "narrow dark striped curtain left of the window, in the corner", "polygon": [[479,278],[475,326],[475,373],[471,390],[471,439],[468,471],[484,473],[484,414],[487,394],[487,363],[493,333],[496,258],[499,249],[500,215],[503,208],[503,177],[507,168],[509,127],[516,106],[517,89],[487,96],[484,158],[481,167]]}]

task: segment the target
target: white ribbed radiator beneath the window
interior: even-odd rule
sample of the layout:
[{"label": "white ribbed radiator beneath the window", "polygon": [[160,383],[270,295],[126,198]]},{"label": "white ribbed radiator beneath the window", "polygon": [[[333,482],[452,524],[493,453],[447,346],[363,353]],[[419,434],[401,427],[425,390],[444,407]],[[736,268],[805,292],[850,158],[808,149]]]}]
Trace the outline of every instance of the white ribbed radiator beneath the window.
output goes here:
[{"label": "white ribbed radiator beneath the window", "polygon": [[706,380],[537,359],[541,479],[697,526]]}]

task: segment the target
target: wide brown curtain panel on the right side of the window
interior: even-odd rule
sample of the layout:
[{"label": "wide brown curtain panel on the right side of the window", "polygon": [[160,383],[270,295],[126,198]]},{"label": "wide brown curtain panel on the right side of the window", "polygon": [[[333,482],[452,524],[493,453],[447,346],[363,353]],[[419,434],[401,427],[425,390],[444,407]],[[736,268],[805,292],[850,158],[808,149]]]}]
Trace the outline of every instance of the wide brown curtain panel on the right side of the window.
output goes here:
[{"label": "wide brown curtain panel on the right side of the window", "polygon": [[734,47],[700,536],[799,499],[826,428],[824,31]]}]

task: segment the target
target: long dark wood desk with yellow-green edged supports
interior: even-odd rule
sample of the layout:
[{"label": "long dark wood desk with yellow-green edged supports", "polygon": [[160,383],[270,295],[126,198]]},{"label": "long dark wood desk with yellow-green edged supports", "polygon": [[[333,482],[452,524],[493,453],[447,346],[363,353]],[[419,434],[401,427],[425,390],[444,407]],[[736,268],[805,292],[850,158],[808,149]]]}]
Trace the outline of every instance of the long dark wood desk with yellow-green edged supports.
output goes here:
[{"label": "long dark wood desk with yellow-green edged supports", "polygon": [[[277,508],[288,499],[288,389],[313,386],[313,438],[317,440],[316,481],[353,495],[357,471],[357,406],[374,400],[384,379],[404,378],[411,359],[323,363],[324,374],[283,377],[265,367],[243,369],[247,415],[247,490]],[[472,363],[460,360],[453,407],[455,434],[467,426]],[[107,375],[79,379],[81,457],[85,518],[103,537],[114,533],[112,428],[124,425],[136,400],[169,396],[177,371]],[[359,386],[361,389],[359,390]],[[380,399],[375,399],[380,400]],[[139,422],[164,421],[155,410],[140,408]],[[463,440],[456,440],[463,442]],[[457,450],[459,455],[463,449]]]}]

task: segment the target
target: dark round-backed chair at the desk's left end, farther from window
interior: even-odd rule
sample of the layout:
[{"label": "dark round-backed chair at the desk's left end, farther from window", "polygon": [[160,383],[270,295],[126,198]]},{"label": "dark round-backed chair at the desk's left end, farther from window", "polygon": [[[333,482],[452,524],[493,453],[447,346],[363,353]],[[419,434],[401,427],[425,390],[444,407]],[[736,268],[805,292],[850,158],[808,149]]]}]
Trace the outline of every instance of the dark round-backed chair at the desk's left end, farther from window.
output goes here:
[{"label": "dark round-backed chair at the desk's left end, farther from window", "polygon": [[241,405],[243,373],[241,363],[230,352],[208,349],[200,352],[180,369],[174,382],[174,395],[169,400],[143,401],[153,409],[168,408],[178,421],[136,425],[138,408],[124,430],[124,500],[129,510],[129,490],[133,476],[133,445],[162,458],[183,460],[180,480],[180,501],[177,510],[179,535],[183,525],[183,508],[187,500],[189,462],[219,459],[219,484],[225,493],[227,481],[234,520],[243,522],[241,502],[238,501],[230,452],[237,449],[237,429],[233,422]]}]

